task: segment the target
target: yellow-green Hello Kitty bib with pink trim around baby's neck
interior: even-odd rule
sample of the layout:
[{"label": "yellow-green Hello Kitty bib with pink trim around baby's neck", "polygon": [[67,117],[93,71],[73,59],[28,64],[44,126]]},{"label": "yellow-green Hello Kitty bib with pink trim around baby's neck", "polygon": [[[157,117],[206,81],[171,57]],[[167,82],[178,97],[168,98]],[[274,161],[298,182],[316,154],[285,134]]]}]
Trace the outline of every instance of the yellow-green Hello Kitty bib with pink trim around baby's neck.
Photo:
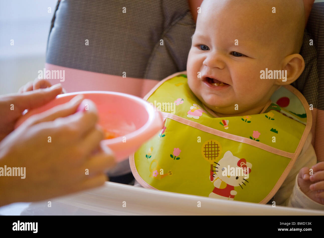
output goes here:
[{"label": "yellow-green Hello Kitty bib with pink trim around baby's neck", "polygon": [[263,113],[218,118],[192,93],[185,73],[170,75],[144,98],[165,123],[130,156],[134,177],[148,188],[267,203],[311,129],[306,99],[286,85]]}]

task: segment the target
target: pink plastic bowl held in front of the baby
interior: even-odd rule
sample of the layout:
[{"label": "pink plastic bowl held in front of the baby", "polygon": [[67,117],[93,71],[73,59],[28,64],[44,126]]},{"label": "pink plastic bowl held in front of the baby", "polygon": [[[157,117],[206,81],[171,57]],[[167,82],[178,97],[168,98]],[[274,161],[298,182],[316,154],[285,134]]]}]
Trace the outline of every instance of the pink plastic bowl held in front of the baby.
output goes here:
[{"label": "pink plastic bowl held in front of the baby", "polygon": [[31,115],[41,113],[54,106],[66,103],[78,94],[92,100],[98,109],[98,124],[108,131],[117,132],[119,137],[102,140],[121,162],[136,151],[141,144],[149,140],[162,129],[163,120],[159,112],[143,99],[124,93],[107,91],[85,91],[58,95],[48,104],[33,109],[19,120],[16,126]]}]

